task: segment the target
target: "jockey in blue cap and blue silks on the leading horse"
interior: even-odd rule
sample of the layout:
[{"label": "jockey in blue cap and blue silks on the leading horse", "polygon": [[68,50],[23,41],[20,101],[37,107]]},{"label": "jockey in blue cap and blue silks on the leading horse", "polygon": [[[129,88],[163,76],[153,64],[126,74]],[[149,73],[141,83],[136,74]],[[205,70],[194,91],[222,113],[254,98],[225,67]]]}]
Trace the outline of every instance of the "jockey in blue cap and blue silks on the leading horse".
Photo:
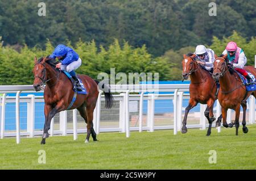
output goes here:
[{"label": "jockey in blue cap and blue silks on the leading horse", "polygon": [[77,91],[82,91],[79,79],[75,73],[75,70],[78,69],[82,64],[82,60],[79,55],[72,48],[60,44],[57,45],[49,58],[59,59],[61,62],[56,64],[56,68],[68,71],[71,77],[75,80],[75,89]]}]

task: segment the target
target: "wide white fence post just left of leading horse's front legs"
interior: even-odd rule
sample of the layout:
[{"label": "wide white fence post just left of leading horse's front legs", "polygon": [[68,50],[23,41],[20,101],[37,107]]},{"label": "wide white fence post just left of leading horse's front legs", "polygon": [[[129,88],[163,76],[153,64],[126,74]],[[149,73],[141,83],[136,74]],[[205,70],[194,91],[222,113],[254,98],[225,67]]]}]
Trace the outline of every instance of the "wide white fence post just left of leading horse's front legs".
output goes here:
[{"label": "wide white fence post just left of leading horse's front legs", "polygon": [[34,136],[35,131],[35,95],[27,95],[31,98],[31,102],[27,103],[27,131],[30,138]]}]

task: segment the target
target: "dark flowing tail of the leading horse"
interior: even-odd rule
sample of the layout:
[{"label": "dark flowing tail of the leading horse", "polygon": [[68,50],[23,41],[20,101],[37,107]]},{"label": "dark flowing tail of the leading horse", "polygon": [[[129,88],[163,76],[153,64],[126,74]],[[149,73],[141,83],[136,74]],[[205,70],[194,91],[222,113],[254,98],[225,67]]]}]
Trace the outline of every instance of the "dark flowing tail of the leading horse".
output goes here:
[{"label": "dark flowing tail of the leading horse", "polygon": [[102,90],[104,92],[105,95],[105,107],[106,108],[111,108],[113,106],[113,95],[110,92],[110,86],[108,85],[108,83],[106,82],[100,82],[94,79],[94,81],[97,83],[98,87],[100,88],[100,90]]}]

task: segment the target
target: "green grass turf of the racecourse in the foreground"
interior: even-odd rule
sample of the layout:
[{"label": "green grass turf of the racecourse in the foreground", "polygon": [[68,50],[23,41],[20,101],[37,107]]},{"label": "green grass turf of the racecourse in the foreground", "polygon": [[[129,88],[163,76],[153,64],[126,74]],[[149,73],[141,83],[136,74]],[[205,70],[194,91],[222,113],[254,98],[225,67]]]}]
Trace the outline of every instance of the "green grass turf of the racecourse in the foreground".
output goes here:
[{"label": "green grass turf of the racecourse in the foreground", "polygon": [[[53,136],[40,145],[41,138],[0,140],[0,169],[256,169],[256,125],[235,135],[235,128],[221,133],[188,129],[154,132],[100,133],[84,143],[85,134]],[[39,150],[46,151],[46,164],[38,163]],[[209,163],[209,150],[216,150],[217,163]]]}]

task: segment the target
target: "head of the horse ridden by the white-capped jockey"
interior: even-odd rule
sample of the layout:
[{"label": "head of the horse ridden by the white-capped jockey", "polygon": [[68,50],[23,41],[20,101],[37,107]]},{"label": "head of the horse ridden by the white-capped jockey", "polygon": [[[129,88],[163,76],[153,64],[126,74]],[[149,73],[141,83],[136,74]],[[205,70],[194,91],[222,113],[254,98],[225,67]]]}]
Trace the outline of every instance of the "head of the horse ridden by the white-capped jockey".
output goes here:
[{"label": "head of the horse ridden by the white-capped jockey", "polygon": [[183,55],[183,60],[182,60],[182,66],[183,66],[183,71],[182,71],[182,77],[183,79],[187,80],[188,75],[192,74],[193,71],[195,71],[196,68],[196,55],[195,54],[188,54],[188,55]]}]

